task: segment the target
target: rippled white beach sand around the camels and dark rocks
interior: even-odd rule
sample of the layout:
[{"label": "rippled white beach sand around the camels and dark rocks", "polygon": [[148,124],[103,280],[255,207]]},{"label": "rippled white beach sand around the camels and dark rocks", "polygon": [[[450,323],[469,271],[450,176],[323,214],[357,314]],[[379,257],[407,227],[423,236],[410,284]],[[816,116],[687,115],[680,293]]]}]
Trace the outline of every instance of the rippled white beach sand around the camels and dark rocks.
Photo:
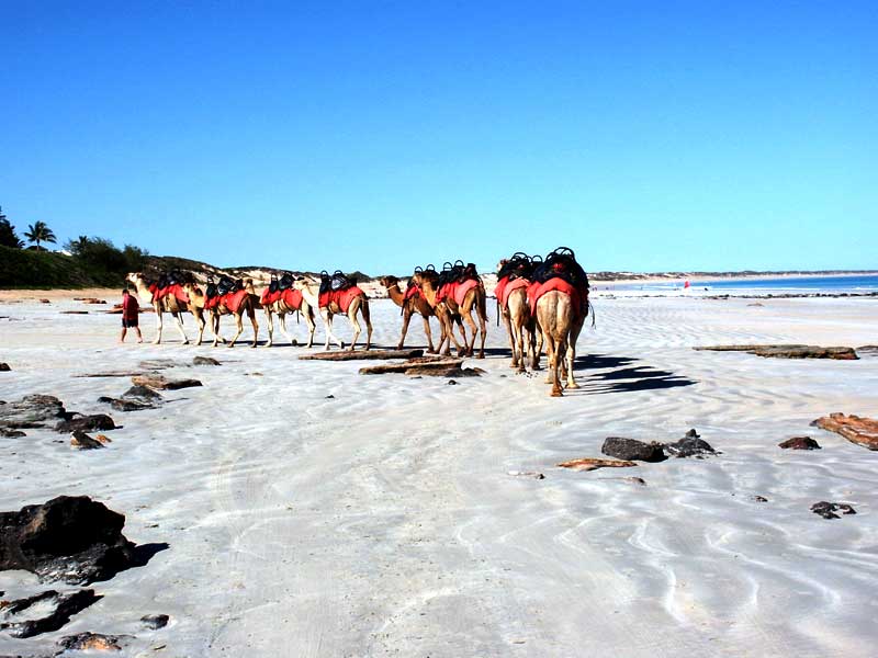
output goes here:
[{"label": "rippled white beach sand around the camels and dark rocks", "polygon": [[[0,373],[0,399],[44,393],[105,412],[95,398],[130,382],[72,375],[144,359],[224,362],[166,371],[204,387],[168,393],[157,410],[112,411],[125,427],[104,451],[76,452],[48,430],[0,439],[0,509],[89,495],[126,514],[131,540],[170,545],[95,583],[103,599],[61,631],[0,632],[0,654],[93,631],[136,636],[133,656],[874,656],[878,453],[809,422],[878,416],[878,358],[690,348],[876,343],[878,300],[595,305],[582,389],[552,399],[505,356],[470,362],[488,373],[448,386],[300,362],[290,347],[182,348],[168,324],[167,345],[119,347],[119,316],[95,307],[0,304],[11,317],[0,319],[0,361],[13,368]],[[488,344],[507,347],[489,306]],[[66,308],[91,313],[58,315]],[[395,345],[398,309],[375,302],[373,316],[375,342]],[[153,316],[142,325],[151,338]],[[302,340],[304,324],[292,327]],[[347,320],[338,328],[350,336]],[[423,344],[419,321],[408,343]],[[601,456],[609,435],[666,441],[693,427],[723,454],[554,467]],[[777,447],[802,434],[823,450]],[[858,513],[823,520],[809,511],[819,500]],[[0,572],[5,598],[36,589]],[[171,624],[144,629],[150,613]]]}]

